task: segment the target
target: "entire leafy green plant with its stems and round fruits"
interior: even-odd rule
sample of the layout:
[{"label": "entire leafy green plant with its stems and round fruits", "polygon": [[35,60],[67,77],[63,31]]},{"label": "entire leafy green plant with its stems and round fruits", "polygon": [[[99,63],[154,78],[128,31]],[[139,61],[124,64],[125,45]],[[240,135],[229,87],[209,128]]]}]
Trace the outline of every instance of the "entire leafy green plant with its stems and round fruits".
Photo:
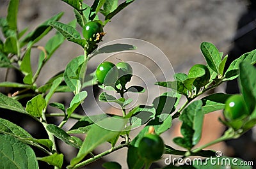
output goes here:
[{"label": "entire leafy green plant with its stems and round fruits", "polygon": [[[34,138],[17,124],[0,118],[0,168],[38,168],[38,161],[44,161],[55,168],[80,168],[111,152],[127,147],[129,168],[145,167],[147,169],[152,162],[161,158],[163,152],[183,158],[214,156],[215,153],[204,149],[214,143],[239,138],[255,126],[256,70],[253,64],[256,63],[256,50],[241,55],[230,65],[225,65],[228,56],[223,57],[223,53],[219,52],[212,43],[203,42],[200,50],[207,64],[195,64],[188,74],[176,73],[172,81],[156,82],[156,85],[168,87],[171,91],[164,92],[149,105],[135,105],[128,111],[125,107],[132,102],[132,99],[125,98],[124,94],[145,92],[144,87],[127,86],[130,84],[127,82],[130,82],[134,73],[132,66],[127,62],[119,62],[115,65],[102,61],[96,73],[86,74],[86,68],[92,57],[97,57],[100,53],[111,53],[107,47],[97,50],[98,43],[104,36],[104,26],[133,0],[122,3],[118,3],[118,0],[95,0],[92,6],[83,3],[82,0],[62,1],[74,9],[76,20],[67,24],[58,22],[63,15],[58,13],[38,25],[34,31],[29,33],[26,32],[28,29],[20,31],[17,27],[19,0],[10,0],[7,17],[0,18],[0,27],[4,36],[4,40],[0,40],[0,67],[8,70],[15,69],[23,75],[23,82],[20,83],[0,82],[0,87],[10,87],[17,91],[11,94],[12,96],[0,93],[0,114],[4,114],[4,110],[9,110],[29,116],[28,118],[42,124],[48,135],[48,138]],[[99,20],[98,15],[103,16],[102,20]],[[76,28],[77,25],[83,29],[83,37]],[[56,31],[56,34],[49,38],[44,47],[37,48],[42,51],[38,55],[36,71],[33,72],[31,48],[38,47],[37,44],[50,31]],[[82,47],[84,54],[72,59],[63,71],[56,73],[44,85],[38,86],[36,80],[42,68],[65,40]],[[115,48],[115,52],[136,49],[132,44],[114,44],[111,47]],[[228,67],[226,71],[225,66]],[[198,99],[198,96],[207,94],[207,91],[237,77],[241,84],[241,95],[214,93]],[[88,96],[86,87],[92,85],[114,91],[117,96],[112,96],[105,91],[100,93],[99,101],[116,103],[122,110],[122,115],[76,114],[76,108]],[[74,97],[68,105],[52,103],[51,98],[57,92],[72,92]],[[182,96],[186,102],[181,105],[179,101]],[[24,98],[28,101],[22,105],[20,99]],[[170,107],[170,105],[174,106]],[[59,109],[61,114],[50,114],[49,106]],[[200,147],[196,146],[202,136],[204,115],[224,108],[225,119],[220,119],[220,122],[227,126],[227,131],[212,142]],[[63,119],[60,124],[49,124],[48,117],[63,117]],[[182,136],[175,137],[173,142],[177,147],[182,147],[182,150],[164,145],[161,138],[161,134],[168,131],[173,119],[177,118],[182,122],[180,127]],[[63,126],[70,119],[77,122],[72,128],[65,130]],[[143,128],[132,138],[130,132],[138,126]],[[155,134],[148,134],[149,128],[154,128]],[[81,140],[73,134],[86,134],[86,136]],[[76,157],[69,161],[68,166],[63,166],[64,155],[58,150],[56,139],[75,147],[78,151]],[[119,143],[119,139],[122,139],[122,142]],[[102,143],[109,143],[111,149],[93,154],[93,150]],[[47,156],[36,157],[31,147],[39,149]],[[3,154],[8,154],[10,157]],[[88,158],[87,155],[91,157]],[[120,164],[113,161],[103,166],[107,169],[122,168]],[[212,168],[209,164],[207,166]],[[176,167],[171,164],[165,168]],[[188,168],[200,168],[200,166],[194,165]]]}]

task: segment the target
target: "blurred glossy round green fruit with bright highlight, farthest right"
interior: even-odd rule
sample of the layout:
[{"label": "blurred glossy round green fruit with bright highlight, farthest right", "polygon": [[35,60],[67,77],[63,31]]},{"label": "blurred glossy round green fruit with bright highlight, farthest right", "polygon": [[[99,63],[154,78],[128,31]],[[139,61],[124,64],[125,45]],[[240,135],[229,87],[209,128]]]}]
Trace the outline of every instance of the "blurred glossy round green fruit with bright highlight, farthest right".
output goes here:
[{"label": "blurred glossy round green fruit with bright highlight, farthest right", "polygon": [[234,94],[225,103],[224,115],[228,121],[249,115],[243,96]]}]

